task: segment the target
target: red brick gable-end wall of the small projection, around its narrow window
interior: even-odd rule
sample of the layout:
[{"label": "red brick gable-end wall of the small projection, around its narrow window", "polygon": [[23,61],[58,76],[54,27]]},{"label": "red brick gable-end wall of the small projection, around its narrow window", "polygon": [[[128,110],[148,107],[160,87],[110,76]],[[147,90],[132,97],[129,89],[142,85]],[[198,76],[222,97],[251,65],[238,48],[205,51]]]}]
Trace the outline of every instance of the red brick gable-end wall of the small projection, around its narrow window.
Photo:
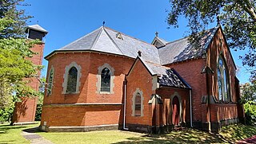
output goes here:
[{"label": "red brick gable-end wall of the small projection, around its narrow window", "polygon": [[[155,93],[152,91],[152,76],[146,70],[140,60],[134,65],[133,70],[130,72],[130,76],[127,76],[127,91],[126,91],[126,123],[139,124],[139,125],[151,125],[152,123],[152,109],[148,104],[150,96]],[[134,91],[139,88],[143,92],[143,105],[144,116],[132,116],[132,99]]]}]

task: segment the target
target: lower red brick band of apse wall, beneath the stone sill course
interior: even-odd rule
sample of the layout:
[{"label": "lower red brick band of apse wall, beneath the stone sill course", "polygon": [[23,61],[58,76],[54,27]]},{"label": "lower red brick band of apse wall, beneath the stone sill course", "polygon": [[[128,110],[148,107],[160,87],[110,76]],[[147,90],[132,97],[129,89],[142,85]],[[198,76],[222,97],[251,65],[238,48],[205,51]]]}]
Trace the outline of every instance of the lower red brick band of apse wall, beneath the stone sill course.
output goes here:
[{"label": "lower red brick band of apse wall, beneath the stone sill course", "polygon": [[97,126],[118,124],[122,106],[43,107],[47,126]]}]

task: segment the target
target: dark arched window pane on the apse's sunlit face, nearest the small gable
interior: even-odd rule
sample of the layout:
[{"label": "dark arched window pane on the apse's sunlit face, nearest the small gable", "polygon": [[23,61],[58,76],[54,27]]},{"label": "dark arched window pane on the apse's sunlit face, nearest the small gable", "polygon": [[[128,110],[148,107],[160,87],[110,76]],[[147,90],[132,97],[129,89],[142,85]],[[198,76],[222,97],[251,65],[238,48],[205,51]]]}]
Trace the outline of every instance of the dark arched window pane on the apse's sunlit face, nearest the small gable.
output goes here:
[{"label": "dark arched window pane on the apse's sunlit face, nearest the small gable", "polygon": [[110,91],[110,69],[103,68],[101,74],[101,91]]}]

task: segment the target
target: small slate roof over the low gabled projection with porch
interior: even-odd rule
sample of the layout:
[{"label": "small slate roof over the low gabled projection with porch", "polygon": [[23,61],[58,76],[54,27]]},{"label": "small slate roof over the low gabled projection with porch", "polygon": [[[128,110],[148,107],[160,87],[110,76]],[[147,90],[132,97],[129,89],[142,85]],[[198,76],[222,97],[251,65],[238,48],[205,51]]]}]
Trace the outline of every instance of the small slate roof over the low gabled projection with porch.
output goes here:
[{"label": "small slate roof over the low gabled projection with porch", "polygon": [[[130,72],[132,72],[135,64],[137,64],[138,61],[142,62],[147,71],[150,72],[151,76],[158,76],[158,83],[160,86],[190,89],[190,85],[187,84],[186,81],[183,80],[182,77],[178,75],[178,72],[176,72],[173,68],[147,62],[140,56],[136,58],[133,66],[130,68]],[[128,72],[127,76],[130,76],[130,72]]]}]

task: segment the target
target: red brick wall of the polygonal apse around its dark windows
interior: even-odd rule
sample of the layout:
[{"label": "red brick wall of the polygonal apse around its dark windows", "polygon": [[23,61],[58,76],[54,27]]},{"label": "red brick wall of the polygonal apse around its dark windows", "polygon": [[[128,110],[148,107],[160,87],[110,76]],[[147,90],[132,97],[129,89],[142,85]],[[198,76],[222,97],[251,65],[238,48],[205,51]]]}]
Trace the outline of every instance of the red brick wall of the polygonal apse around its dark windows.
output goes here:
[{"label": "red brick wall of the polygonal apse around its dark windows", "polygon": [[[62,94],[65,67],[71,62],[81,66],[82,77],[78,94]],[[114,68],[114,94],[98,94],[98,67],[110,64]],[[51,95],[45,95],[44,105],[52,103],[122,103],[123,81],[134,59],[99,53],[58,53],[50,57],[48,73],[54,67],[54,87]],[[47,77],[48,80],[48,77]],[[47,126],[94,126],[122,123],[122,105],[93,107],[43,107],[42,124]],[[66,114],[70,115],[67,116]],[[57,119],[56,119],[57,118]],[[75,119],[74,119],[75,118]],[[58,120],[59,119],[59,120]],[[66,122],[69,121],[69,122]],[[64,123],[65,122],[65,123]]]}]

